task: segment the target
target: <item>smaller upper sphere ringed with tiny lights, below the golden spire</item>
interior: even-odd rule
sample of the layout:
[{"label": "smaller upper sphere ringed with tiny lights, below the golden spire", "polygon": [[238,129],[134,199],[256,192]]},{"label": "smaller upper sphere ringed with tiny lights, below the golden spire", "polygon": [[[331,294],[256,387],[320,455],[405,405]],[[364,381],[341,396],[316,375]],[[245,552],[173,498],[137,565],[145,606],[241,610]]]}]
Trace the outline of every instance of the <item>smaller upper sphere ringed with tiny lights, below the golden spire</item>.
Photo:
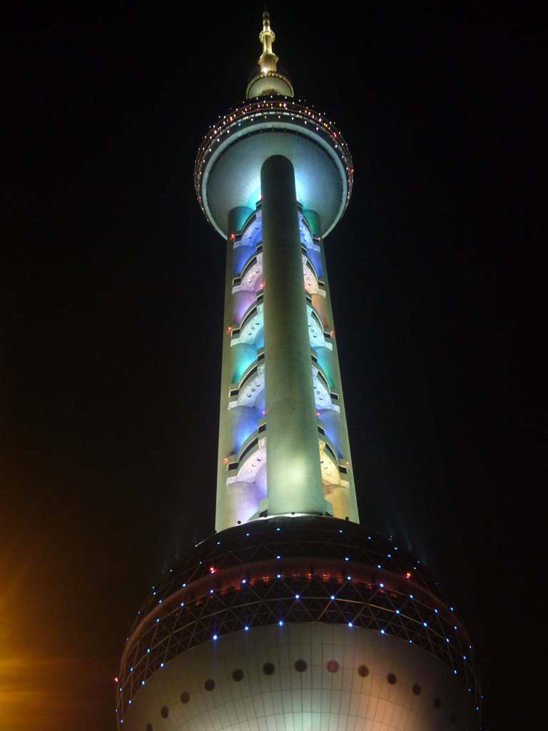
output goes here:
[{"label": "smaller upper sphere ringed with tiny lights, below the golden spire", "polygon": [[292,162],[297,200],[319,214],[322,235],[335,227],[348,205],[354,170],[340,132],[310,107],[277,99],[253,102],[225,115],[199,149],[194,170],[197,197],[205,216],[225,238],[232,208],[256,207],[261,167],[272,155]]}]

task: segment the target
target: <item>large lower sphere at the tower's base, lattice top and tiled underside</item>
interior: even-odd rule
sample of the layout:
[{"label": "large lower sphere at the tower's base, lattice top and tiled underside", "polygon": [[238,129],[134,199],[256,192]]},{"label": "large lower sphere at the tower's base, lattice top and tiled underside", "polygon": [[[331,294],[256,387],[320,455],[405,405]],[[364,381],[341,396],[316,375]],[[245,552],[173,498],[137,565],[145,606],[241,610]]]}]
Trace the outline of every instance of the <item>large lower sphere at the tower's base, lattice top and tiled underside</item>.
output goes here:
[{"label": "large lower sphere at the tower's base, lattice top and tiled underside", "polygon": [[477,709],[468,635],[425,567],[316,516],[199,544],[148,597],[118,691],[131,731],[466,731]]}]

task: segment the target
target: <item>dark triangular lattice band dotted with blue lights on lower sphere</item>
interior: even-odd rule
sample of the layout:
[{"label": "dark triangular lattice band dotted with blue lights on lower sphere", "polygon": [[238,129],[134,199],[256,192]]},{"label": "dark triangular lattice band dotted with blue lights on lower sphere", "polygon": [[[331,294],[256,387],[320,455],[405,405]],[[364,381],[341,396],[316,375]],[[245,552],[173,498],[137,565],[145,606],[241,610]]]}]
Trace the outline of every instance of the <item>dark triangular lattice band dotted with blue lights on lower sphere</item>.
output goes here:
[{"label": "dark triangular lattice band dotted with blue lights on lower sphere", "polygon": [[175,656],[280,622],[344,624],[430,652],[479,704],[473,650],[425,567],[387,539],[335,518],[272,518],[210,537],[153,588],[129,639],[118,714]]}]

